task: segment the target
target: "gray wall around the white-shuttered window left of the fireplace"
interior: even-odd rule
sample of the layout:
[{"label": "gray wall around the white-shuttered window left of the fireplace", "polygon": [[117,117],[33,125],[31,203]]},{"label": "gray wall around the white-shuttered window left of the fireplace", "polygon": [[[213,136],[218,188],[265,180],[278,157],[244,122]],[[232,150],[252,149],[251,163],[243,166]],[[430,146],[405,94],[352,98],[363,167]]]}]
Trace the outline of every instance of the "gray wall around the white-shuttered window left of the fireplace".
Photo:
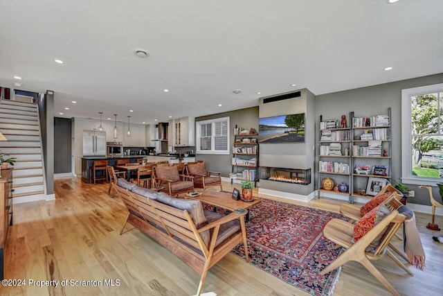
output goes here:
[{"label": "gray wall around the white-shuttered window left of the fireplace", "polygon": [[[231,112],[224,112],[218,114],[211,114],[208,116],[196,117],[195,122],[204,121],[208,119],[217,119],[219,117],[229,116],[229,126],[230,126],[230,147],[234,143],[234,128],[237,125],[239,128],[255,128],[258,130],[258,107],[251,107],[242,110],[235,110]],[[196,139],[197,146],[197,139]],[[196,155],[196,160],[204,160],[206,162],[206,168],[208,171],[216,171],[220,172],[223,177],[229,177],[229,173],[232,171],[231,161],[232,161],[232,153],[228,155],[207,155],[207,154],[198,154]]]}]

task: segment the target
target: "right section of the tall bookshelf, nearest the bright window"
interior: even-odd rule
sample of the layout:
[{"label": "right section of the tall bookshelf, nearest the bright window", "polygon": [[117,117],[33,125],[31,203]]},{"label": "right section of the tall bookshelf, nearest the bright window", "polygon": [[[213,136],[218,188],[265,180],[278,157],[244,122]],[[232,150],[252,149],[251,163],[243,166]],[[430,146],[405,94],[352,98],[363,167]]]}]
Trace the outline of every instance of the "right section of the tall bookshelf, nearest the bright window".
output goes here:
[{"label": "right section of the tall bookshelf, nearest the bright window", "polygon": [[354,116],[352,119],[352,149],[351,166],[352,194],[350,202],[354,197],[367,197],[370,191],[369,182],[391,181],[391,138],[390,138],[390,107],[386,113],[370,116]]}]

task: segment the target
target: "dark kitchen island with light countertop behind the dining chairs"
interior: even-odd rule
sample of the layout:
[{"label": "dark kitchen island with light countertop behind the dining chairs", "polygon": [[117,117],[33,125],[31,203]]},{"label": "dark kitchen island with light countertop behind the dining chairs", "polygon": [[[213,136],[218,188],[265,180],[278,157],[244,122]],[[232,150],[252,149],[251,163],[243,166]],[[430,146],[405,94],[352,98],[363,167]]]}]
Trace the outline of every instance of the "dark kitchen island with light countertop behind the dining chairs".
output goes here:
[{"label": "dark kitchen island with light countertop behind the dining chairs", "polygon": [[[116,166],[118,159],[129,159],[129,163],[136,163],[138,159],[146,159],[146,162],[169,162],[170,164],[177,164],[179,162],[195,162],[195,156],[192,157],[179,157],[177,155],[125,155],[114,157],[82,157],[82,181],[89,183],[89,168],[93,166],[93,162],[96,160],[107,160],[108,166]],[[97,172],[97,176],[101,172]]]}]

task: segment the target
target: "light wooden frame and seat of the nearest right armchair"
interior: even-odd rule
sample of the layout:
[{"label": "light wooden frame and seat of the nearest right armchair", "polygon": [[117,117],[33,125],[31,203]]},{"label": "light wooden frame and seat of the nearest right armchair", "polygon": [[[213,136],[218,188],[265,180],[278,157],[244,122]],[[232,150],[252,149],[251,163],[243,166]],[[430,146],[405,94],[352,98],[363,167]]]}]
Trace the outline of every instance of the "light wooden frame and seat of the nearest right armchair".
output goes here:
[{"label": "light wooden frame and seat of the nearest right armchair", "polygon": [[[375,225],[369,232],[367,232],[356,243],[352,243],[354,235],[354,224],[345,222],[341,219],[330,220],[323,229],[323,235],[338,245],[347,248],[347,250],[338,256],[331,264],[320,272],[320,275],[326,275],[328,272],[344,265],[349,261],[356,261],[361,263],[374,277],[376,277],[383,286],[385,286],[393,295],[400,295],[394,286],[390,284],[388,280],[379,272],[379,270],[370,262],[370,260],[379,260],[383,255],[388,254],[392,260],[394,260],[401,268],[410,272],[408,268],[401,263],[397,257],[386,249],[386,246],[390,242],[392,236],[399,229],[401,224],[404,223],[406,216],[399,215],[397,210],[392,210],[388,216],[385,216],[377,225]],[[388,227],[388,229],[386,229]],[[384,234],[383,234],[384,233]],[[374,252],[365,252],[366,248],[374,241],[375,238],[382,235],[379,246]]]}]

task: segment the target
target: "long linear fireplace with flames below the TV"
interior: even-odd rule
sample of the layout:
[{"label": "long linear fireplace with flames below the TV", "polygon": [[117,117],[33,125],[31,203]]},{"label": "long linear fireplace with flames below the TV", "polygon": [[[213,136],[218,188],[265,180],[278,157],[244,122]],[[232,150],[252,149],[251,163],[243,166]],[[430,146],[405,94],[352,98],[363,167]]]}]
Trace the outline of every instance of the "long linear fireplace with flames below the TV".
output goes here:
[{"label": "long linear fireplace with flames below the TV", "polygon": [[262,180],[307,185],[311,183],[311,169],[261,167]]}]

